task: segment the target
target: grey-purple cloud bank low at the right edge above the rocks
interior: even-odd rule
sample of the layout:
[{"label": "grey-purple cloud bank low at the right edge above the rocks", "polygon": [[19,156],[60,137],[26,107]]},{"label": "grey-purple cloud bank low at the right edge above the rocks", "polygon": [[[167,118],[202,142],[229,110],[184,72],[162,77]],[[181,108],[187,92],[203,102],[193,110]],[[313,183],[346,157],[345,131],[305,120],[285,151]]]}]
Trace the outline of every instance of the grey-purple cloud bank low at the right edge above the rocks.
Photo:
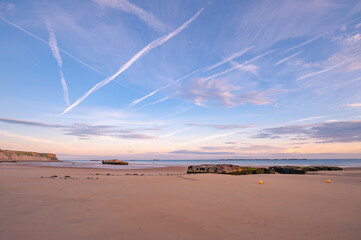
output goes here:
[{"label": "grey-purple cloud bank low at the right edge above the rocks", "polygon": [[[324,122],[308,125],[291,125],[263,130],[262,138],[279,138],[282,135],[293,139],[317,139],[321,142],[360,142],[361,121]],[[296,137],[296,138],[295,138]]]}]

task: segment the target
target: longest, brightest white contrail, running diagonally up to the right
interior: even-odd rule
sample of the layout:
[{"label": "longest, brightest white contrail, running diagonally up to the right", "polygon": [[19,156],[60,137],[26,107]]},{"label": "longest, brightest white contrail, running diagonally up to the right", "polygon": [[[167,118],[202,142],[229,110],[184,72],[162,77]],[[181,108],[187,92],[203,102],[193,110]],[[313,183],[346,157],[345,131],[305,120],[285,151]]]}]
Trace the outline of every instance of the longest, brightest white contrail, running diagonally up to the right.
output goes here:
[{"label": "longest, brightest white contrail, running diagonally up to the right", "polygon": [[160,37],[156,40],[154,40],[153,42],[149,43],[147,46],[145,46],[145,48],[143,48],[142,50],[140,50],[137,54],[135,54],[128,62],[126,62],[123,66],[120,67],[120,69],[118,70],[118,72],[116,72],[115,74],[113,74],[110,77],[107,77],[106,79],[104,79],[103,81],[99,82],[98,84],[96,84],[94,87],[92,87],[88,92],[86,92],[82,97],[80,97],[78,100],[76,100],[70,107],[68,107],[67,109],[64,110],[64,112],[62,112],[60,115],[63,115],[65,113],[67,113],[68,111],[70,111],[71,109],[73,109],[74,107],[76,107],[79,103],[81,103],[85,98],[87,98],[90,94],[92,94],[93,92],[95,92],[96,90],[98,90],[99,88],[105,86],[106,84],[108,84],[109,82],[111,82],[112,80],[114,80],[114,78],[116,78],[117,76],[119,76],[119,74],[121,74],[122,72],[124,72],[126,69],[128,69],[135,61],[138,60],[138,58],[142,57],[144,54],[146,54],[148,51],[152,50],[153,48],[159,47],[161,45],[163,45],[165,42],[167,42],[169,39],[171,39],[172,37],[176,36],[178,33],[180,33],[181,31],[183,31],[191,22],[193,22],[193,20],[195,20],[200,14],[201,12],[204,10],[204,8],[202,8],[201,10],[199,10],[191,19],[189,19],[188,21],[186,21],[185,23],[183,23],[182,26],[180,26],[178,29],[176,29],[175,31]]}]

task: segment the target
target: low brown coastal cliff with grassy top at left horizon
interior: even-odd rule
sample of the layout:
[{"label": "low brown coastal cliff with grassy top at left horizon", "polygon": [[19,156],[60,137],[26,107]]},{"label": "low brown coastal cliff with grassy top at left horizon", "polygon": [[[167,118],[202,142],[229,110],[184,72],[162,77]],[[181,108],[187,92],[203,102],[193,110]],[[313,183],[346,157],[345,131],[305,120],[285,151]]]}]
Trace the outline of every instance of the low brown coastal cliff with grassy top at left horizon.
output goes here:
[{"label": "low brown coastal cliff with grassy top at left horizon", "polygon": [[56,154],[10,151],[0,149],[0,162],[56,162]]}]

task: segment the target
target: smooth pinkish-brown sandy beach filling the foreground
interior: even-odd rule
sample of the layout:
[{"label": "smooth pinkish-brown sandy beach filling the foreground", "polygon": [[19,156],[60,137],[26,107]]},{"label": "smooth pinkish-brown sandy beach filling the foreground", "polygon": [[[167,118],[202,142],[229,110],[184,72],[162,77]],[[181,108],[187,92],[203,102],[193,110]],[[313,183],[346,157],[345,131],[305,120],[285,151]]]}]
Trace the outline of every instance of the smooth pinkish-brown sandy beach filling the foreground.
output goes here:
[{"label": "smooth pinkish-brown sandy beach filling the foreground", "polygon": [[361,238],[360,169],[249,176],[185,170],[0,165],[0,239]]}]

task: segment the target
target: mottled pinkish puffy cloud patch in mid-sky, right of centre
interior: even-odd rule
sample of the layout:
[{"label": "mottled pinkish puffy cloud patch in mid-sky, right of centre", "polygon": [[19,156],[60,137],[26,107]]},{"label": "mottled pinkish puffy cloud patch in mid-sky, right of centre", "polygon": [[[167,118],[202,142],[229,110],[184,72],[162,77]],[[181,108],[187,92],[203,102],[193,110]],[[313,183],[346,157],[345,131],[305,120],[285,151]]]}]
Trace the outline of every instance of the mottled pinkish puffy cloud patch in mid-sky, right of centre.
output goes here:
[{"label": "mottled pinkish puffy cloud patch in mid-sky, right of centre", "polygon": [[212,79],[207,81],[204,78],[192,79],[183,84],[175,96],[192,100],[201,107],[222,106],[235,107],[245,103],[254,105],[267,105],[274,100],[266,96],[264,91],[249,91],[242,93],[241,87],[229,84],[223,79]]}]

